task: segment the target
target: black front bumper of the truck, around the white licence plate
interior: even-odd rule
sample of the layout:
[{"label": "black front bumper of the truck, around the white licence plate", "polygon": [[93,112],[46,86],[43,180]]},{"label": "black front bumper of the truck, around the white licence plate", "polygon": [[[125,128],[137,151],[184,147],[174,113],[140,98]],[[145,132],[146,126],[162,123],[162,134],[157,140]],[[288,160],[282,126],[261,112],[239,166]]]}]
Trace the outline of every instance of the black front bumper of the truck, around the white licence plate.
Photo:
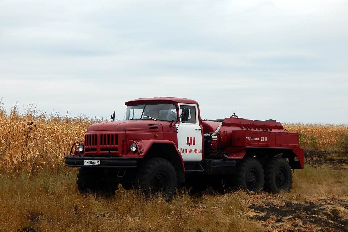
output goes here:
[{"label": "black front bumper of the truck, around the white licence plate", "polygon": [[[108,157],[65,157],[65,166],[69,167],[100,167],[100,168],[136,168],[138,158]],[[100,165],[84,165],[84,160],[100,161]]]}]

